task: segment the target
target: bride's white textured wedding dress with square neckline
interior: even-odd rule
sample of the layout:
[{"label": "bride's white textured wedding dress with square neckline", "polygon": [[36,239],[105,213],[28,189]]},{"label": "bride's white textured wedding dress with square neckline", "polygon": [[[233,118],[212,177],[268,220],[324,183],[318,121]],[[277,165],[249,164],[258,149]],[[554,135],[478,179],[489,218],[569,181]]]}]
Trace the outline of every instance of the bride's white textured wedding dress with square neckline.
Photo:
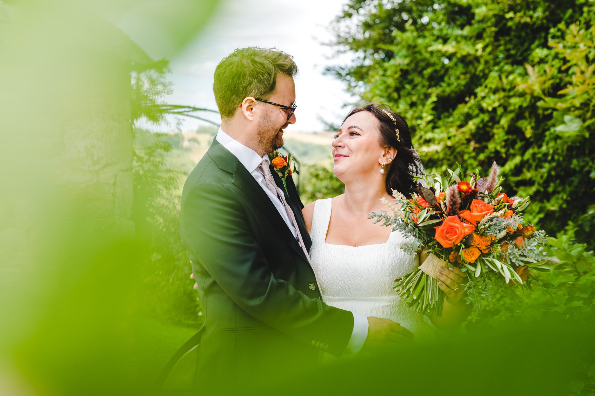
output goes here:
[{"label": "bride's white textured wedding dress with square neckline", "polygon": [[413,332],[417,341],[433,340],[434,331],[424,322],[424,316],[406,306],[392,288],[394,279],[419,266],[417,254],[400,249],[408,243],[408,238],[400,231],[393,231],[386,243],[364,246],[325,243],[331,207],[332,198],[316,201],[310,231],[309,254],[322,301],[364,316],[394,320]]}]

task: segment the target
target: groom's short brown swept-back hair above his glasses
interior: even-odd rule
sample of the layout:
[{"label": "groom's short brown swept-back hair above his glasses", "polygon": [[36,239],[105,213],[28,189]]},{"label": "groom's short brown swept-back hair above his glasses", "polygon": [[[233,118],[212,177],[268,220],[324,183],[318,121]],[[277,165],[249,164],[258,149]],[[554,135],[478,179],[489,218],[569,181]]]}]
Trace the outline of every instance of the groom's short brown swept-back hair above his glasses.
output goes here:
[{"label": "groom's short brown swept-back hair above his glasses", "polygon": [[275,48],[239,48],[215,68],[213,92],[221,118],[231,118],[248,96],[268,99],[275,92],[277,74],[293,77],[293,56]]}]

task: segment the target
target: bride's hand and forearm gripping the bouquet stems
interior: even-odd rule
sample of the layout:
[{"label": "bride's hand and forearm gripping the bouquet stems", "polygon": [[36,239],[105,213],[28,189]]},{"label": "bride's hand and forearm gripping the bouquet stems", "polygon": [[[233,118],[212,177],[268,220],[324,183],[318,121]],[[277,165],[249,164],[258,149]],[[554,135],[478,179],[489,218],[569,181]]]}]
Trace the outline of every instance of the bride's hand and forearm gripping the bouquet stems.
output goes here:
[{"label": "bride's hand and forearm gripping the bouquet stems", "polygon": [[[423,263],[428,255],[419,253],[419,262]],[[467,274],[460,268],[450,266],[441,267],[437,276],[439,277],[438,287],[445,294],[442,316],[428,315],[431,322],[439,329],[455,330],[468,318],[471,313],[471,307],[465,303],[465,284],[467,283]]]}]

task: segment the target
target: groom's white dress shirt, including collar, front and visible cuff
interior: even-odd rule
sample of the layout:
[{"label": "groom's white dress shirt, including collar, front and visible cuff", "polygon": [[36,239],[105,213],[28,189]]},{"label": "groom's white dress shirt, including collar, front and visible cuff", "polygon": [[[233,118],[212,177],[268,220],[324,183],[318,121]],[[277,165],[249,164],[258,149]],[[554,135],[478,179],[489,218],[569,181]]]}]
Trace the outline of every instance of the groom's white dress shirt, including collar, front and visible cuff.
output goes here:
[{"label": "groom's white dress shirt, including collar, front and visible cuff", "polygon": [[[285,211],[283,203],[278,199],[277,196],[273,194],[271,190],[268,189],[267,181],[265,180],[262,172],[258,169],[258,166],[263,160],[267,161],[268,163],[268,155],[265,154],[263,156],[259,156],[257,152],[233,139],[233,137],[229,136],[221,128],[219,128],[217,137],[215,137],[215,139],[217,139],[217,142],[221,143],[223,147],[236,156],[238,161],[240,161],[240,164],[242,164],[248,170],[248,172],[250,172],[250,175],[252,175],[254,180],[256,180],[256,183],[262,187],[262,190],[267,194],[271,202],[273,202],[275,209],[277,209],[277,212],[279,212],[281,218],[283,218],[283,221],[285,224],[287,224],[287,227],[289,227],[289,230],[292,231],[293,236],[297,238],[297,226],[294,225],[289,216],[287,216],[287,212]],[[282,195],[283,191],[280,191],[280,193]],[[364,315],[359,315],[359,313],[352,313],[353,331],[351,333],[349,343],[347,344],[347,353],[356,353],[361,350],[361,348],[364,346],[366,338],[368,337],[368,318],[366,318]]]}]

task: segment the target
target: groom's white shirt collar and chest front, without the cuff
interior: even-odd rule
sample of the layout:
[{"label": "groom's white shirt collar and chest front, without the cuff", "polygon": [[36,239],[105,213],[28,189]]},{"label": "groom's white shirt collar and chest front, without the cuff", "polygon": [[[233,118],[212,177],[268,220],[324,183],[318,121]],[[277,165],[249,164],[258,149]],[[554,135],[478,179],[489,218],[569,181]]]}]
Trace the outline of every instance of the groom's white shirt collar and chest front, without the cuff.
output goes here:
[{"label": "groom's white shirt collar and chest front, without the cuff", "polygon": [[[240,161],[240,164],[244,165],[244,168],[246,168],[254,180],[256,180],[256,183],[260,184],[262,190],[264,190],[265,194],[267,194],[271,202],[273,202],[275,209],[277,209],[277,212],[279,212],[283,218],[283,221],[285,224],[287,224],[287,227],[289,227],[289,230],[292,231],[293,236],[297,238],[297,229],[293,226],[289,216],[287,216],[283,203],[281,203],[281,201],[278,199],[277,194],[274,194],[268,189],[267,181],[264,180],[262,172],[258,169],[258,166],[262,161],[267,161],[268,166],[268,155],[265,154],[262,157],[259,156],[257,152],[233,139],[233,137],[229,136],[221,128],[219,128],[217,137],[215,137],[215,139],[217,139],[217,142],[221,143],[223,147],[236,156],[238,161]],[[283,194],[282,191],[281,194]]]}]

